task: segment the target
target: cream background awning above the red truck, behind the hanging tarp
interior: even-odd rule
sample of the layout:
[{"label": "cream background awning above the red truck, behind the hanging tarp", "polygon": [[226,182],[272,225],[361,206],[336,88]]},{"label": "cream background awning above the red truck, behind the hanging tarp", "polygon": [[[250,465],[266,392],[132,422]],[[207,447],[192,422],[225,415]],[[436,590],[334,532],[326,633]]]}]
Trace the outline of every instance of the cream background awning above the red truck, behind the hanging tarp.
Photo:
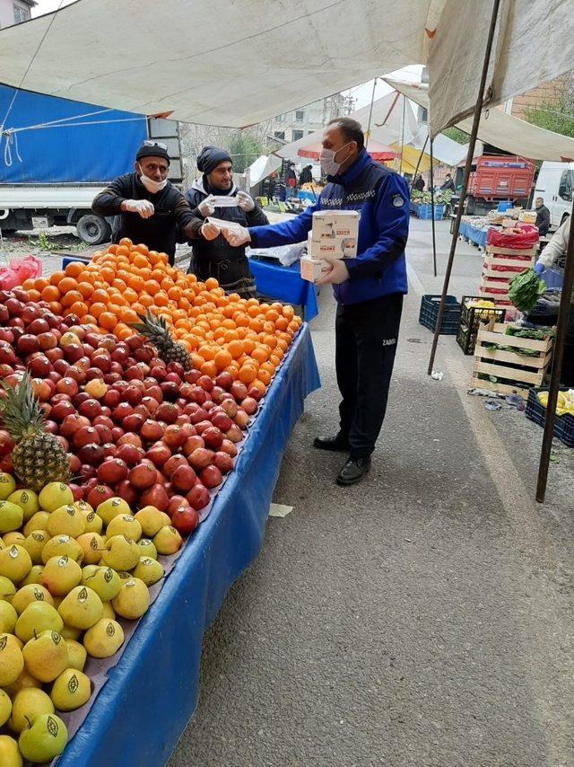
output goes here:
[{"label": "cream background awning above the red truck, behind the hanging tarp", "polygon": [[[385,81],[396,91],[429,109],[428,85],[390,77],[386,77]],[[457,122],[457,128],[470,133],[472,122],[472,118],[463,119]],[[560,163],[574,158],[574,138],[538,128],[499,109],[483,110],[478,137],[484,144],[498,146],[505,152],[519,154],[530,160],[554,160]]]}]

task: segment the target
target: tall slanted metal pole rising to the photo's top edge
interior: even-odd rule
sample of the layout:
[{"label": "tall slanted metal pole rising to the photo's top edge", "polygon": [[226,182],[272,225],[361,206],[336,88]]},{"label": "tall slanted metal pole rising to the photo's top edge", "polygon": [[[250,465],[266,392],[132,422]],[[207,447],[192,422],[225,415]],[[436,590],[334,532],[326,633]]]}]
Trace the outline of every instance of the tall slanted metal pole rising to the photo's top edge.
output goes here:
[{"label": "tall slanted metal pole rising to the photo's top edge", "polygon": [[463,207],[466,198],[466,187],[468,185],[468,177],[470,176],[470,166],[473,163],[474,145],[476,144],[476,135],[478,133],[478,126],[481,121],[481,111],[483,109],[483,95],[484,86],[486,85],[486,75],[488,75],[488,66],[491,59],[492,40],[494,39],[494,30],[496,28],[496,20],[499,13],[500,0],[494,0],[492,3],[492,15],[491,25],[488,31],[488,38],[486,40],[486,49],[484,51],[483,71],[481,73],[481,81],[478,86],[478,94],[476,96],[476,103],[474,104],[474,116],[473,127],[471,129],[470,138],[468,140],[468,152],[466,154],[465,172],[463,174],[462,189],[460,190],[460,199],[458,202],[457,217],[455,218],[455,225],[452,232],[452,241],[450,242],[450,251],[448,253],[447,269],[445,271],[445,281],[442,286],[442,295],[440,296],[439,314],[437,317],[437,325],[434,331],[434,338],[432,339],[431,357],[429,359],[429,367],[427,374],[431,375],[432,366],[434,365],[434,358],[437,353],[437,345],[439,343],[440,324],[442,322],[442,315],[445,312],[445,302],[448,293],[448,283],[450,282],[450,274],[452,272],[453,261],[455,260],[455,251],[457,250],[458,231],[460,229],[460,220],[463,216]]}]

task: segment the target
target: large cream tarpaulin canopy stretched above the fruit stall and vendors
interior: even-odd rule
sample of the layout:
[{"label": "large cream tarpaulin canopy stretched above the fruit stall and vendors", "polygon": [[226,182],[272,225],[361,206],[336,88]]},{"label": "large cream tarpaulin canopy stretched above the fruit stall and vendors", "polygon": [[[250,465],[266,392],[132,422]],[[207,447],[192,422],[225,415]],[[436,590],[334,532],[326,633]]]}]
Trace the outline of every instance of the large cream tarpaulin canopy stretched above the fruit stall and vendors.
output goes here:
[{"label": "large cream tarpaulin canopy stretched above the fruit stall and vendors", "polygon": [[82,0],[0,31],[0,83],[39,48],[27,90],[242,128],[421,62],[436,2]]}]

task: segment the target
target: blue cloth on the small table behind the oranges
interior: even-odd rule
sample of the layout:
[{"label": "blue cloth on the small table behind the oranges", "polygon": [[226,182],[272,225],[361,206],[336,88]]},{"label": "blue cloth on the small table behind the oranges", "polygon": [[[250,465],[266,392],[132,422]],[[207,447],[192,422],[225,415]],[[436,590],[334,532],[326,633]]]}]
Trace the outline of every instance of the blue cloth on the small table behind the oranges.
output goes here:
[{"label": "blue cloth on the small table behind the oranges", "polygon": [[302,306],[306,322],[317,317],[319,310],[315,286],[301,278],[299,261],[290,267],[282,267],[278,261],[249,259],[249,269],[255,278],[258,293]]}]

